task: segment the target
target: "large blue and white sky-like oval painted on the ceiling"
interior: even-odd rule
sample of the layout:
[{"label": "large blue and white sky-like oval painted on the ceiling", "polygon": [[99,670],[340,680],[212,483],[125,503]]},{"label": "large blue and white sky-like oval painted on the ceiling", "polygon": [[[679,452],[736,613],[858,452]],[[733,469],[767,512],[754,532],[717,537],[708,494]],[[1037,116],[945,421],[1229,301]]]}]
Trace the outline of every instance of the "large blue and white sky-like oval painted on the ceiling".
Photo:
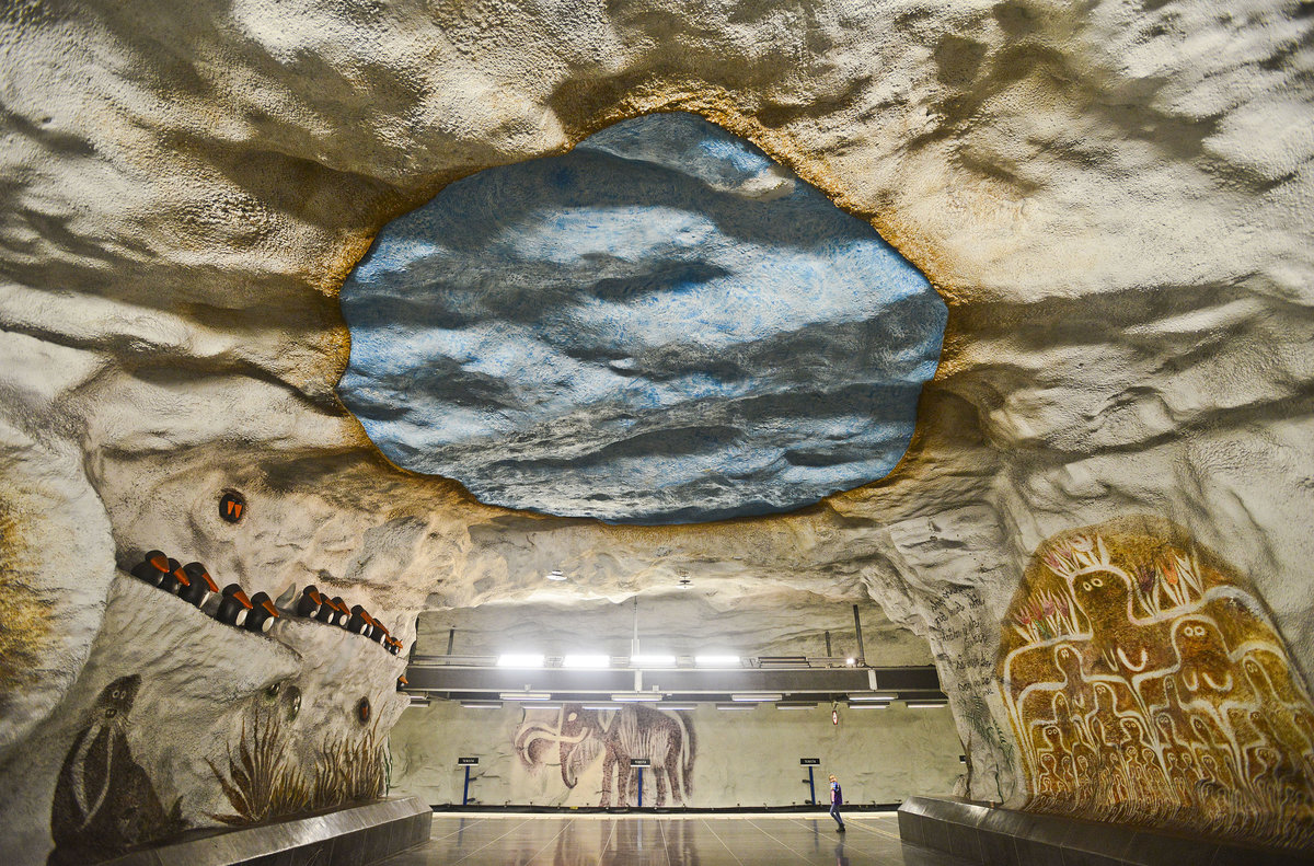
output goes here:
[{"label": "large blue and white sky-like oval painted on the ceiling", "polygon": [[886,476],[946,319],[870,225],[683,113],[447,187],[384,227],[342,309],[338,393],[389,460],[618,523]]}]

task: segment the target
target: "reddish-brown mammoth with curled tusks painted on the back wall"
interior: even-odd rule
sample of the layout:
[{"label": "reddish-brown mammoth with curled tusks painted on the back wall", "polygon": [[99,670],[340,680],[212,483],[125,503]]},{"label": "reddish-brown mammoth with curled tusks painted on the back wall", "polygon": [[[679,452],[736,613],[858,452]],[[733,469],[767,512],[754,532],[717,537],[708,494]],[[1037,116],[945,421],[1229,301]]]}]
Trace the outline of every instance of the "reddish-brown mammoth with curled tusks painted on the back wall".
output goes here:
[{"label": "reddish-brown mammoth with curled tusks painted on the back wall", "polygon": [[[602,798],[598,806],[629,806],[637,794],[637,774],[631,758],[650,762],[645,785],[657,790],[652,806],[666,806],[670,787],[675,806],[689,804],[694,792],[696,741],[692,723],[679,712],[629,704],[620,710],[585,710],[568,703],[561,710],[530,710],[515,733],[515,753],[531,771],[553,763],[561,782],[573,790],[581,774],[602,758]],[[636,798],[637,799],[637,798]]]}]

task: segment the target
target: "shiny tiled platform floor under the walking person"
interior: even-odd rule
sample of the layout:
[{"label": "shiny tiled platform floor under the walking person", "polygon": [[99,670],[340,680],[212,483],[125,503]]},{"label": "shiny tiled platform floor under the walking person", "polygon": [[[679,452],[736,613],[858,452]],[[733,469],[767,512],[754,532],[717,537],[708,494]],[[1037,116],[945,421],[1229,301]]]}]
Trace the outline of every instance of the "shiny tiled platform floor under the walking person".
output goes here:
[{"label": "shiny tiled platform floor under the walking person", "polygon": [[430,841],[378,866],[967,866],[904,845],[890,813],[837,833],[816,815],[434,815]]}]

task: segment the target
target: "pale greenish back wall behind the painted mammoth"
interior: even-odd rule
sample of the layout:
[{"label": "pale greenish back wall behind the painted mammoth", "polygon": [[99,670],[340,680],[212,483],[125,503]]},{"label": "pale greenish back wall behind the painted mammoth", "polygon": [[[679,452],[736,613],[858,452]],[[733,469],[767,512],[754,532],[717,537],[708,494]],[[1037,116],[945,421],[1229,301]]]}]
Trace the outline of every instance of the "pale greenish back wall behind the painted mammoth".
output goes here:
[{"label": "pale greenish back wall behind the painted mammoth", "polygon": [[[478,757],[470,778],[470,798],[482,804],[597,807],[603,795],[602,750],[587,750],[574,760],[565,750],[573,786],[561,771],[558,745],[562,714],[587,712],[520,708],[465,710],[459,703],[435,702],[402,714],[393,728],[393,783],[427,799],[430,804],[460,803],[465,773],[460,757]],[[652,712],[657,712],[656,710]],[[608,728],[614,711],[597,714]],[[664,775],[644,770],[644,806],[656,806],[658,781],[665,788],[664,806],[683,803],[694,808],[802,806],[808,802],[808,770],[800,758],[819,758],[813,770],[816,794],[829,803],[827,775],[834,773],[849,803],[897,803],[913,791],[951,791],[962,763],[958,736],[947,710],[840,708],[840,724],[830,723],[830,706],[811,710],[716,710],[660,714],[695,731],[689,794],[675,800]],[[526,736],[532,735],[532,736]],[[577,735],[576,735],[577,736]],[[516,749],[516,744],[524,748]],[[639,756],[635,757],[646,757]],[[536,758],[536,760],[535,760]],[[682,765],[683,766],[683,765]],[[628,804],[639,802],[637,774],[629,777]],[[683,782],[683,779],[681,779]],[[618,803],[618,779],[611,781],[611,804]]]}]

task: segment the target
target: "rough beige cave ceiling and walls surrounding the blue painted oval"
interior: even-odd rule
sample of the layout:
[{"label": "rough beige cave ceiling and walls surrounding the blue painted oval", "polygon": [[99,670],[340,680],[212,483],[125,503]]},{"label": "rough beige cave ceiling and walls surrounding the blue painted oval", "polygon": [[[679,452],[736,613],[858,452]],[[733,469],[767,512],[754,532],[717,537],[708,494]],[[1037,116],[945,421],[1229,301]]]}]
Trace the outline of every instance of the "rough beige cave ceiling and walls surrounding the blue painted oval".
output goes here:
[{"label": "rough beige cave ceiling and walls surrounding the blue painted oval", "polygon": [[[1144,515],[1163,551],[1212,551],[1307,682],[1311,28],[1279,1],[8,4],[0,591],[22,661],[7,652],[0,777],[32,790],[5,804],[9,859],[54,848],[79,724],[95,737],[75,757],[131,746],[139,771],[121,771],[152,827],[172,825],[175,802],[194,823],[226,808],[197,769],[204,756],[226,769],[217,745],[179,740],[170,765],[137,724],[194,712],[226,719],[233,742],[247,686],[202,711],[154,686],[151,665],[96,661],[127,641],[112,628],[114,565],[151,548],[247,593],[315,582],[407,641],[431,597],[622,601],[682,574],[723,598],[870,597],[930,645],[971,756],[963,790],[1018,806],[1043,806],[1043,779],[997,661],[1047,539]],[[376,233],[453,180],[664,109],[753,142],[945,298],[942,360],[903,461],[796,513],[679,527],[506,511],[390,465],[335,396],[350,353],[338,290]],[[217,511],[230,489],[248,502],[237,524]],[[547,587],[553,568],[573,580]],[[184,679],[179,660],[197,652],[256,687],[319,657],[160,622],[142,622],[134,652]],[[1130,668],[1096,672],[1100,649],[1087,673],[1135,691]],[[1213,652],[1244,673],[1244,647]],[[109,719],[129,696],[122,729]],[[1284,712],[1221,712],[1166,741],[1180,766],[1240,731],[1230,760],[1277,786],[1243,808],[1272,815],[1309,777]],[[1286,758],[1263,750],[1264,725]],[[1259,825],[1208,815],[1185,824],[1242,838]]]}]

